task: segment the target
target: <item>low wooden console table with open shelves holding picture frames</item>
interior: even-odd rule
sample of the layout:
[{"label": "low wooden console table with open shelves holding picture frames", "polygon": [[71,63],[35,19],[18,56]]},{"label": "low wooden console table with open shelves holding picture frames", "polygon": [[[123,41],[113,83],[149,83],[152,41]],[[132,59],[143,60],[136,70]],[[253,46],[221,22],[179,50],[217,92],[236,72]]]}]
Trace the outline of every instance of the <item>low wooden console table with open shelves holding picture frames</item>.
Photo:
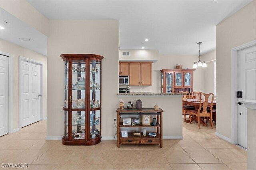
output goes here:
[{"label": "low wooden console table with open shelves holding picture frames", "polygon": [[[117,147],[120,147],[120,144],[160,144],[160,148],[163,147],[163,126],[162,126],[162,113],[163,110],[159,108],[159,110],[154,110],[154,108],[143,108],[143,109],[117,109]],[[142,122],[140,125],[123,125],[123,122],[121,122],[122,115],[140,115],[141,119],[143,115],[152,115],[156,117],[157,119],[157,125],[151,126],[151,125],[142,125]],[[128,137],[122,137],[121,135],[121,128],[140,128],[141,136],[133,136],[133,131],[128,131]],[[143,128],[156,128],[156,137],[149,136],[148,132],[146,136],[142,135]]]}]

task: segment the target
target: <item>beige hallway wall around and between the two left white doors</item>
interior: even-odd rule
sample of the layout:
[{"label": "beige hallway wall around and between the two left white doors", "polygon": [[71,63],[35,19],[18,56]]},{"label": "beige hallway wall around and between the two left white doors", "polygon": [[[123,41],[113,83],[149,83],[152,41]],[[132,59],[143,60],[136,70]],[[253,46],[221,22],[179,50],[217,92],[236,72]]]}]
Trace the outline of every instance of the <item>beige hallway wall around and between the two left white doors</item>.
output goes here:
[{"label": "beige hallway wall around and between the two left white doors", "polygon": [[47,117],[47,57],[24,47],[1,40],[1,51],[13,54],[13,129],[19,127],[19,56],[43,63],[43,119]]}]

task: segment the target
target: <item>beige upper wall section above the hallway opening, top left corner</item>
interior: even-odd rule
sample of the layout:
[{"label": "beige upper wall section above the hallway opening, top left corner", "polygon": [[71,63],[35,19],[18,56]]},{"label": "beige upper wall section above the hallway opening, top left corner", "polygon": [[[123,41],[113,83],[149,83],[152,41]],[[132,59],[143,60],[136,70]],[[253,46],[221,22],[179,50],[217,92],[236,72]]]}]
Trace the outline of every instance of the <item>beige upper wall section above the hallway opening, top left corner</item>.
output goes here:
[{"label": "beige upper wall section above the hallway opening, top left corner", "polygon": [[48,36],[48,19],[26,0],[1,0],[1,8]]}]

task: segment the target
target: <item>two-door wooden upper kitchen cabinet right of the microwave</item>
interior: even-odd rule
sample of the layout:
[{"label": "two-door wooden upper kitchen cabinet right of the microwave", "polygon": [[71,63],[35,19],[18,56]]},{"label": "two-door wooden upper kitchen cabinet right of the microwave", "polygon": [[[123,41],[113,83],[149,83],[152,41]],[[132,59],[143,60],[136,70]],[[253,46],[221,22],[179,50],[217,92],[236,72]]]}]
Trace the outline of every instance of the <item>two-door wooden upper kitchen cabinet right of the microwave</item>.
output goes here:
[{"label": "two-door wooden upper kitchen cabinet right of the microwave", "polygon": [[152,62],[130,62],[129,85],[152,85]]}]

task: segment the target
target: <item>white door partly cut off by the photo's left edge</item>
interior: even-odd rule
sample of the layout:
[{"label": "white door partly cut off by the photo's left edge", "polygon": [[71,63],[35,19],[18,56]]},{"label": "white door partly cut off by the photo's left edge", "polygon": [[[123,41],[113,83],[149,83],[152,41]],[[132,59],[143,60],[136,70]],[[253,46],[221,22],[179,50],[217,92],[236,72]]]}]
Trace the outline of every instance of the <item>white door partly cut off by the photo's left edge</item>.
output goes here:
[{"label": "white door partly cut off by the photo's left edge", "polygon": [[9,57],[0,56],[0,136],[8,133]]}]

